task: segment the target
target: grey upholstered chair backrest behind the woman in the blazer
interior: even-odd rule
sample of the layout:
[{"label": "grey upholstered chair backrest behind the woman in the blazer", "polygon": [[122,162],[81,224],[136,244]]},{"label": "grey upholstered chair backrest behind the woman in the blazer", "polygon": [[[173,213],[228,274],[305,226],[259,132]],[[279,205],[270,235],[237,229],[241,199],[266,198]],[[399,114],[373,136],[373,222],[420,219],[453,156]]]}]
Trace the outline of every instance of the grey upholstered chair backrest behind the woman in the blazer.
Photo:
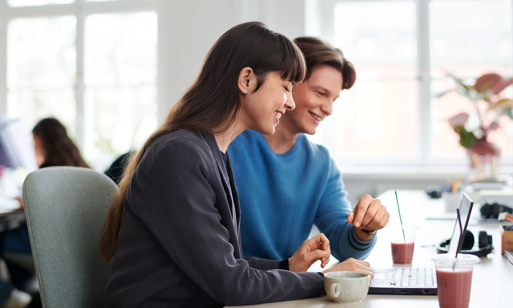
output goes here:
[{"label": "grey upholstered chair backrest behind the woman in the blazer", "polygon": [[98,253],[116,184],[80,167],[47,167],[23,184],[25,214],[45,308],[103,307],[110,265]]}]

